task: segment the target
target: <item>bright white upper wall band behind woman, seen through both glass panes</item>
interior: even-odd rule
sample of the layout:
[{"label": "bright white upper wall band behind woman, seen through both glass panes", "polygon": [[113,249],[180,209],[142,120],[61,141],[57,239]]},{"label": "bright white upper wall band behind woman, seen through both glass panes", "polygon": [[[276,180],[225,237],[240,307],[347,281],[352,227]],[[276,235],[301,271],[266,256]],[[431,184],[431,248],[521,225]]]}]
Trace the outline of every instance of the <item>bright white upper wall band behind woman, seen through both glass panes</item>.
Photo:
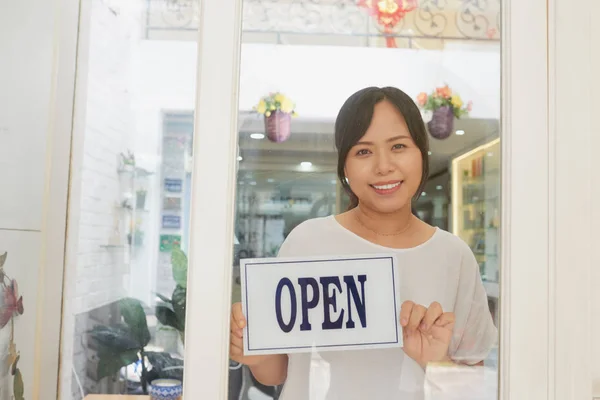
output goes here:
[{"label": "bright white upper wall band behind woman, seen through both glass panes", "polygon": [[[139,55],[138,135],[148,140],[160,126],[159,110],[193,109],[196,44],[147,41]],[[240,74],[240,110],[251,110],[261,96],[280,90],[293,98],[302,117],[332,120],[344,100],[366,86],[397,86],[416,96],[448,83],[473,101],[473,118],[500,115],[500,52],[493,47],[441,52],[245,43]]]}]

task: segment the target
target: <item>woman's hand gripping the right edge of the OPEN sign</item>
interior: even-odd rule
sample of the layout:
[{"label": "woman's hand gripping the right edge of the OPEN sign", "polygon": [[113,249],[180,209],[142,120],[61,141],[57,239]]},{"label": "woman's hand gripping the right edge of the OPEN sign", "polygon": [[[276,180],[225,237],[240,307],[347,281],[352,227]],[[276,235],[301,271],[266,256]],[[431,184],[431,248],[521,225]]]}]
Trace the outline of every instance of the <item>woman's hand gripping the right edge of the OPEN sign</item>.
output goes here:
[{"label": "woman's hand gripping the right edge of the OPEN sign", "polygon": [[421,367],[425,368],[430,362],[449,360],[454,313],[443,312],[437,302],[425,308],[406,301],[400,311],[400,325],[404,352]]}]

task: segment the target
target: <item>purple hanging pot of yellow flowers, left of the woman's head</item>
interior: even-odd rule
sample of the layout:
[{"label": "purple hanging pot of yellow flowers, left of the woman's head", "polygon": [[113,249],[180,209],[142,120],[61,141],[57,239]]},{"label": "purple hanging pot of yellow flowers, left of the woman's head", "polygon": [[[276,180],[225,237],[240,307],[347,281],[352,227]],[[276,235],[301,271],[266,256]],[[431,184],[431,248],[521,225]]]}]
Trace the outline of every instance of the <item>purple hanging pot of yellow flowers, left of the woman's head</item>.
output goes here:
[{"label": "purple hanging pot of yellow flowers, left of the woman's head", "polygon": [[260,99],[254,110],[265,119],[265,131],[269,140],[285,142],[291,133],[291,119],[296,116],[295,104],[282,93],[269,93]]}]

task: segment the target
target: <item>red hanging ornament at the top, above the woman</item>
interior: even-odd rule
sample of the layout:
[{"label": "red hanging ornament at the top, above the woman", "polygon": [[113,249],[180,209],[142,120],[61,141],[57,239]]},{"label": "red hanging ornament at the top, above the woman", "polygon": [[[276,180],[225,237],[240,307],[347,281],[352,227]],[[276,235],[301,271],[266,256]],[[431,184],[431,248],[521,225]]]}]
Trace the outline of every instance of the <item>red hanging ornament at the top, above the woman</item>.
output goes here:
[{"label": "red hanging ornament at the top, above the woman", "polygon": [[417,0],[358,0],[358,6],[366,8],[369,15],[377,19],[383,27],[387,47],[395,48],[398,46],[391,36],[393,29],[406,14],[417,8]]}]

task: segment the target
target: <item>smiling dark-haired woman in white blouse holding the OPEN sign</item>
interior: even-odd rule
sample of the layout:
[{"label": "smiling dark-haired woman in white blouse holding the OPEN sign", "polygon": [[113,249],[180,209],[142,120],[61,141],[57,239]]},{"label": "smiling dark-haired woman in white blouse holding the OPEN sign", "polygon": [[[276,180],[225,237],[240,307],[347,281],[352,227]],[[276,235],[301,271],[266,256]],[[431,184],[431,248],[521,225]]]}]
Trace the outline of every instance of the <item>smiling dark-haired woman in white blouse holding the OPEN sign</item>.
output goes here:
[{"label": "smiling dark-haired woman in white blouse holding the OPEN sign", "polygon": [[496,342],[479,267],[456,236],[420,221],[411,204],[428,175],[428,139],[419,109],[396,88],[350,96],[335,123],[338,177],[349,211],[308,220],[281,257],[394,252],[400,266],[403,348],[243,356],[245,318],[232,307],[230,357],[281,400],[421,399],[432,362],[481,364]]}]

